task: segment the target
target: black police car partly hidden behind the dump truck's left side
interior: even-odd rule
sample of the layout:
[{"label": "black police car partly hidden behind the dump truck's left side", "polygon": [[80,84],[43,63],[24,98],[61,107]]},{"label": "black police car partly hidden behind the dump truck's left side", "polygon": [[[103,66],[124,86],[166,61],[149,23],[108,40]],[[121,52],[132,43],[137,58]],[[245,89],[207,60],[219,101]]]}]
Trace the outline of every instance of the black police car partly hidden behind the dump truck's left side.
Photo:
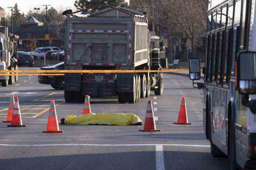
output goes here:
[{"label": "black police car partly hidden behind the dump truck's left side", "polygon": [[[41,67],[41,70],[64,70],[64,62],[60,62],[54,66]],[[40,84],[50,84],[54,89],[64,90],[64,76],[38,76]]]}]

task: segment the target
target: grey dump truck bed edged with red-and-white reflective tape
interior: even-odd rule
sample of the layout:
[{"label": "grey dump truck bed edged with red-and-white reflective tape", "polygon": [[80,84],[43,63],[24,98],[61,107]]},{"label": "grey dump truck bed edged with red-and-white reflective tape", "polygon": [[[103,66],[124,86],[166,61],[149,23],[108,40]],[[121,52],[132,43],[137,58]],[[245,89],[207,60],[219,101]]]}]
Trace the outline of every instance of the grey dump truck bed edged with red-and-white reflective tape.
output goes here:
[{"label": "grey dump truck bed edged with red-and-white reflective tape", "polygon": [[95,17],[70,17],[66,20],[66,40],[66,65],[136,67],[149,62],[144,16],[112,17],[108,11]]}]

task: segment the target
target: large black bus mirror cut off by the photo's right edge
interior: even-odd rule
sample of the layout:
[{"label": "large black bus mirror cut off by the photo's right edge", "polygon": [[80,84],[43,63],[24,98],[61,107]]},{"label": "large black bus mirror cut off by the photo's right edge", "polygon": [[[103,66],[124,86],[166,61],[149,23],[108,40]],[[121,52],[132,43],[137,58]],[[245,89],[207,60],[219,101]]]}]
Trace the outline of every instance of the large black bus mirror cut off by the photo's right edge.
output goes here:
[{"label": "large black bus mirror cut off by the photo's right edge", "polygon": [[240,94],[256,94],[256,53],[239,53],[236,75]]}]

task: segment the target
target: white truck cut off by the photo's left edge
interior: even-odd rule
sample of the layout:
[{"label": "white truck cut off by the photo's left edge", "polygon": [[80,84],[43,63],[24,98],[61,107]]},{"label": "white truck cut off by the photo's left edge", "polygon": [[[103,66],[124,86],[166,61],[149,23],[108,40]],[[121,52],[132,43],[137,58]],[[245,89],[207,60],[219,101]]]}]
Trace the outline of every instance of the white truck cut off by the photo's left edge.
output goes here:
[{"label": "white truck cut off by the photo's left edge", "polygon": [[[8,34],[8,27],[5,27],[4,35],[0,34],[0,70],[18,70],[18,40],[19,36]],[[14,84],[18,76],[8,73],[9,75],[0,75],[0,83],[3,87]]]}]

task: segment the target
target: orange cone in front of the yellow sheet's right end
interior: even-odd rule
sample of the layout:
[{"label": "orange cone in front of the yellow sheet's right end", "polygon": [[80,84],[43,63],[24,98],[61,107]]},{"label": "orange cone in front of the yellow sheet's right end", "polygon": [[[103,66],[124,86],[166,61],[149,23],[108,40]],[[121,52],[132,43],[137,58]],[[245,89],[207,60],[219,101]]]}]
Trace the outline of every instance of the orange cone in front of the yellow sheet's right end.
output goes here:
[{"label": "orange cone in front of the yellow sheet's right end", "polygon": [[139,129],[139,131],[161,131],[160,129],[156,129],[151,100],[148,101],[144,129]]}]

